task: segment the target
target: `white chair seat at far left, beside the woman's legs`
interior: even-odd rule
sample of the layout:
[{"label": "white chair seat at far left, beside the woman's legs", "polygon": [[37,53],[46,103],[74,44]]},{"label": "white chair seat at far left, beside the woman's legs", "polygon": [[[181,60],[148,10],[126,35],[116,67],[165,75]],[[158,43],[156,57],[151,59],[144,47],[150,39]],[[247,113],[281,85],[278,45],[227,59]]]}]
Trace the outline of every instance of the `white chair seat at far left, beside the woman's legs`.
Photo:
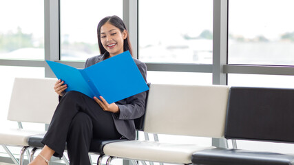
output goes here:
[{"label": "white chair seat at far left, beside the woman's legs", "polygon": [[28,146],[28,137],[45,131],[28,131],[23,129],[1,129],[0,144],[9,146]]}]

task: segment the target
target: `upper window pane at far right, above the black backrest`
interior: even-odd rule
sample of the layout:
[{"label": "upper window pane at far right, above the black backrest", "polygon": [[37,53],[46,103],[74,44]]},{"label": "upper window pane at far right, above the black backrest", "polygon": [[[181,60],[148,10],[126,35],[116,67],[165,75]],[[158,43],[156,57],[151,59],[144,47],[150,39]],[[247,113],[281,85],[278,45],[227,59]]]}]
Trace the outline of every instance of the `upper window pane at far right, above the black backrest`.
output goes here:
[{"label": "upper window pane at far right, above the black backrest", "polygon": [[293,0],[229,1],[229,64],[294,65]]}]

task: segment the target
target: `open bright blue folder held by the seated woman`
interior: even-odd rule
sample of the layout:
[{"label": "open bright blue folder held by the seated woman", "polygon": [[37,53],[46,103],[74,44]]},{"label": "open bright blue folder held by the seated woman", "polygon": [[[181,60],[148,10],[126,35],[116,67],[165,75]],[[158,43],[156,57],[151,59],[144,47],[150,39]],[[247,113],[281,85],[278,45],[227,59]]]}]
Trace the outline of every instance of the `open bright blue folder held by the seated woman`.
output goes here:
[{"label": "open bright blue folder held by the seated woman", "polygon": [[80,91],[90,98],[103,96],[109,104],[149,89],[129,51],[85,69],[46,62],[67,84],[65,91]]}]

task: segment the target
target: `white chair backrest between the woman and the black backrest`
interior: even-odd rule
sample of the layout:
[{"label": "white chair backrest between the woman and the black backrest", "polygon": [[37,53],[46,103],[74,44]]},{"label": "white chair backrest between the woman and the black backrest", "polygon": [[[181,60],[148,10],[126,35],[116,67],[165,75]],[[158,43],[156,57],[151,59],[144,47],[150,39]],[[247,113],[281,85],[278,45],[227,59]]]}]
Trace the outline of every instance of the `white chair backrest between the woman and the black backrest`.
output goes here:
[{"label": "white chair backrest between the woman and the black backrest", "polygon": [[223,137],[228,94],[222,85],[151,84],[144,131]]}]

